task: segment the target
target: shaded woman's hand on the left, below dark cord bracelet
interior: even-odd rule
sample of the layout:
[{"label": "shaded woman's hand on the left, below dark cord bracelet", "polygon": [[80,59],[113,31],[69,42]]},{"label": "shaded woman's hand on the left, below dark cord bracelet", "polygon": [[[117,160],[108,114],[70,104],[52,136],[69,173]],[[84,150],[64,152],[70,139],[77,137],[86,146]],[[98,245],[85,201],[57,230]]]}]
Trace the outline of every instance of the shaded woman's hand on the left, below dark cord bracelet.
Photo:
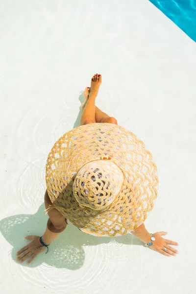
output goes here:
[{"label": "shaded woman's hand on the left, below dark cord bracelet", "polygon": [[22,263],[30,257],[30,259],[27,262],[27,264],[29,264],[38,254],[40,254],[47,248],[46,246],[37,248],[38,246],[42,246],[39,236],[29,235],[26,236],[25,239],[32,241],[16,253],[16,255],[18,255],[16,260]]}]

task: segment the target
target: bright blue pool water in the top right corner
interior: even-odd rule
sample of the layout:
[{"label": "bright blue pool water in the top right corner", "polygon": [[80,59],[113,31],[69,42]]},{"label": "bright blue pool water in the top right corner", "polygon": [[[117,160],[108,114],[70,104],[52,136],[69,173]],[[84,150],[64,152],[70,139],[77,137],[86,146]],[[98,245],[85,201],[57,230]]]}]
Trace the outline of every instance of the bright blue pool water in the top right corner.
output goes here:
[{"label": "bright blue pool water in the top right corner", "polygon": [[149,0],[196,42],[196,0]]}]

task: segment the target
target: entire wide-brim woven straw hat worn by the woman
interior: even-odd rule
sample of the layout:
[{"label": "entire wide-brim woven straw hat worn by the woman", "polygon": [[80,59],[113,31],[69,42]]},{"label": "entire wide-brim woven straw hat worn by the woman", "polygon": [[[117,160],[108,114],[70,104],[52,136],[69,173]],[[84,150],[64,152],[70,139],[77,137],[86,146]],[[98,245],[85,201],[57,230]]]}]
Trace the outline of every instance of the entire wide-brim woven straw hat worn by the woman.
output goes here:
[{"label": "entire wide-brim woven straw hat worn by the woman", "polygon": [[112,123],[80,125],[52,147],[46,165],[52,205],[85,233],[136,229],[157,198],[157,168],[144,143]]}]

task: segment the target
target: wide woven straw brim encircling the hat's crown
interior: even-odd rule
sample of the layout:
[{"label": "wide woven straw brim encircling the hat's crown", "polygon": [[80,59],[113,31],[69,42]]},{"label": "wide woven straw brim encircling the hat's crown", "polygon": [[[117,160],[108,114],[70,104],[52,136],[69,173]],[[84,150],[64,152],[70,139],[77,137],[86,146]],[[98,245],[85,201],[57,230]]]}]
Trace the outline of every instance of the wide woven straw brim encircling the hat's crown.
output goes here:
[{"label": "wide woven straw brim encircling the hat's crown", "polygon": [[[73,195],[74,176],[103,156],[110,156],[123,171],[123,188],[107,208],[84,209]],[[112,123],[90,123],[70,130],[54,144],[46,183],[53,207],[75,226],[96,236],[118,236],[147,219],[157,198],[158,176],[151,153],[132,132]]]}]

